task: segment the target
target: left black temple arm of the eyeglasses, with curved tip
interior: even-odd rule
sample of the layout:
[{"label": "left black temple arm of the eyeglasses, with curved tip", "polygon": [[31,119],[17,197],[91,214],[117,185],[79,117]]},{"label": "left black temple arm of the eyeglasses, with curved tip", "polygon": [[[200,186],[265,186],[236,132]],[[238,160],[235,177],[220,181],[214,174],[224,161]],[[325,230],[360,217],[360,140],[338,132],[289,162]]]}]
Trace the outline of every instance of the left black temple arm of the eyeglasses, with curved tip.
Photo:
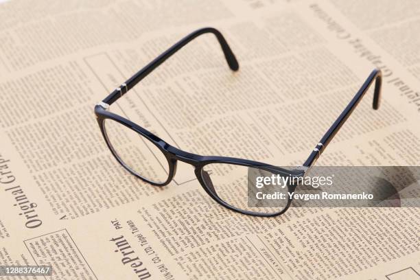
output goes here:
[{"label": "left black temple arm of the eyeglasses, with curved tip", "polygon": [[228,43],[224,39],[223,35],[216,30],[213,27],[205,27],[199,30],[196,30],[189,34],[188,36],[185,36],[185,38],[181,39],[167,49],[165,52],[163,52],[160,56],[155,58],[152,62],[150,62],[148,65],[143,67],[139,72],[137,72],[135,75],[133,75],[130,79],[128,79],[126,82],[121,84],[117,89],[115,89],[110,95],[108,95],[102,102],[110,105],[113,104],[115,101],[118,100],[119,97],[127,93],[133,86],[135,86],[137,83],[139,83],[145,76],[147,76],[150,72],[152,72],[156,67],[161,65],[167,58],[170,58],[173,54],[176,53],[180,48],[184,47],[189,43],[191,40],[194,40],[194,38],[206,34],[206,33],[213,33],[216,38],[218,39],[220,46],[222,47],[222,51],[224,53],[224,57],[226,58],[226,61],[229,65],[229,67],[233,71],[237,71],[239,69],[239,64],[237,63],[237,60],[235,58],[235,55],[233,54],[231,48],[229,47]]}]

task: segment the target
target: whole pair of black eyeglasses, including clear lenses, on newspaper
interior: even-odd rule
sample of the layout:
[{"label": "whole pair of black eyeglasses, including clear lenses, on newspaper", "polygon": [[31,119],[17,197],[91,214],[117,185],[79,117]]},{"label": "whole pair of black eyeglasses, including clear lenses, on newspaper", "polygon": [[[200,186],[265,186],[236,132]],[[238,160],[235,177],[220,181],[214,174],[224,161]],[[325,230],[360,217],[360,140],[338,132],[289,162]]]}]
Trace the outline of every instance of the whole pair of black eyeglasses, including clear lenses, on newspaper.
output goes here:
[{"label": "whole pair of black eyeglasses, including clear lenses, on newspaper", "polygon": [[[287,199],[279,201],[278,205],[271,205],[270,207],[249,205],[248,174],[254,172],[257,174],[264,173],[265,176],[273,174],[275,176],[294,176],[298,178],[304,176],[320,154],[327,148],[329,142],[340,130],[342,124],[345,123],[360,100],[362,100],[373,80],[375,80],[373,109],[376,110],[379,107],[382,73],[379,69],[372,71],[355,97],[353,97],[338,119],[334,121],[334,124],[327,130],[323,138],[316,144],[305,163],[290,170],[246,159],[191,154],[166,143],[129,119],[108,111],[111,104],[126,94],[167,58],[170,58],[194,38],[207,33],[215,35],[222,47],[229,67],[231,70],[237,71],[239,65],[235,55],[222,34],[211,27],[196,30],[155,58],[95,106],[95,115],[97,116],[102,135],[115,159],[128,172],[145,182],[156,186],[167,185],[175,175],[177,161],[183,161],[195,167],[196,177],[203,189],[220,205],[247,215],[266,217],[280,215],[290,207],[292,198],[288,196]],[[284,191],[292,193],[294,189],[296,189],[296,185],[290,184]]]}]

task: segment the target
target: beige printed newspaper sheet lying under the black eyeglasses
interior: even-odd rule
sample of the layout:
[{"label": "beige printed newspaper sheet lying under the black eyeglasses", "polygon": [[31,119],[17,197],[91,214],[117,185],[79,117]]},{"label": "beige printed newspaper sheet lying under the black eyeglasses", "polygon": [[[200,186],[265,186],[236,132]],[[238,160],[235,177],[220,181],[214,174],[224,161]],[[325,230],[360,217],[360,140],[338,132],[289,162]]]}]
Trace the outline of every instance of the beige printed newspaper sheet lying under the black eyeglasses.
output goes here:
[{"label": "beige printed newspaper sheet lying under the black eyeglasses", "polygon": [[93,114],[212,26],[240,71],[202,36],[110,110],[182,150],[301,165],[377,67],[380,110],[368,93],[316,164],[420,165],[417,1],[16,0],[0,19],[0,265],[50,264],[45,279],[418,279],[418,208],[234,213],[183,163],[166,187],[126,172]]}]

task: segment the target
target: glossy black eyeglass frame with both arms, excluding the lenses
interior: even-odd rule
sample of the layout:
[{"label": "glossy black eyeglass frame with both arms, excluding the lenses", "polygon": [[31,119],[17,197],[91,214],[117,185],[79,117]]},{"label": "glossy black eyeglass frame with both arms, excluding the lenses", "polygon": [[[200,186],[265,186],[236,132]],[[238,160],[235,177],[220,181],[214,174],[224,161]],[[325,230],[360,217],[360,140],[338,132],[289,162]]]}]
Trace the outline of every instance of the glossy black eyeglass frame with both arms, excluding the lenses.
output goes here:
[{"label": "glossy black eyeglass frame with both arms, excluding the lenses", "polygon": [[[314,165],[316,160],[319,158],[320,154],[322,154],[325,151],[325,148],[327,148],[327,145],[331,142],[331,140],[334,138],[338,130],[342,127],[342,125],[345,123],[345,121],[349,118],[351,113],[353,113],[353,110],[355,107],[359,104],[360,100],[362,100],[362,97],[365,95],[365,93],[368,91],[369,87],[375,80],[375,91],[373,95],[373,109],[377,110],[380,106],[380,95],[381,95],[381,87],[382,87],[382,71],[380,69],[374,69],[369,77],[366,79],[364,84],[362,84],[359,91],[355,94],[353,99],[349,102],[349,104],[346,106],[345,110],[342,111],[340,116],[334,121],[334,124],[331,125],[331,127],[325,132],[325,135],[318,141],[318,143],[315,145],[314,150],[310,153],[310,156],[308,156],[307,160],[303,163],[303,165],[296,167],[294,170],[288,170],[282,167],[277,167],[275,165],[269,165],[267,163],[261,163],[258,161],[250,161],[248,159],[238,159],[233,157],[227,157],[227,156],[202,156],[200,154],[194,154],[190,152],[185,152],[183,150],[180,150],[173,145],[168,144],[167,142],[163,141],[161,138],[154,135],[152,132],[146,130],[145,128],[135,124],[134,122],[130,121],[129,119],[126,119],[124,117],[121,117],[120,115],[117,115],[115,113],[111,113],[108,109],[111,104],[116,102],[120,97],[122,97],[124,94],[126,94],[132,87],[134,87],[136,84],[138,84],[143,78],[145,78],[149,73],[151,73],[156,67],[159,67],[167,58],[170,58],[173,54],[176,53],[179,49],[187,45],[191,40],[194,40],[194,38],[202,35],[211,33],[213,34],[220,43],[220,46],[222,47],[222,51],[224,53],[224,57],[226,58],[226,62],[228,63],[230,69],[232,71],[239,70],[239,64],[237,62],[237,59],[235,58],[235,55],[233,54],[231,47],[229,47],[228,43],[226,42],[224,36],[216,30],[213,27],[205,27],[201,28],[199,30],[196,30],[195,32],[192,32],[191,34],[185,36],[185,38],[181,39],[164,51],[160,56],[152,60],[148,65],[143,67],[140,71],[135,73],[131,78],[126,80],[123,84],[121,84],[117,89],[115,89],[112,93],[110,93],[102,102],[99,102],[95,105],[94,111],[97,118],[97,123],[100,126],[100,130],[102,132],[102,136],[104,137],[106,141],[106,145],[108,145],[108,148],[110,149],[111,153],[117,159],[117,161],[126,169],[128,172],[130,172],[132,175],[136,176],[137,178],[140,178],[141,180],[150,183],[151,185],[155,186],[164,186],[169,184],[172,179],[174,178],[174,175],[176,173],[176,165],[178,161],[183,161],[184,163],[188,163],[190,165],[193,165],[195,170],[194,173],[196,174],[196,177],[198,181],[200,182],[200,185],[205,189],[207,194],[215,200],[215,202],[218,202],[220,205],[231,209],[233,211],[236,211],[238,213],[246,214],[246,215],[254,215],[254,216],[261,216],[261,217],[275,217],[277,215],[281,215],[287,211],[292,203],[292,198],[288,198],[288,203],[285,206],[285,208],[279,212],[276,213],[260,213],[260,212],[254,212],[254,211],[248,211],[244,209],[239,209],[237,207],[233,207],[232,205],[229,205],[227,202],[222,200],[218,194],[216,193],[213,186],[209,186],[205,183],[205,178],[203,178],[203,167],[205,165],[209,165],[211,163],[226,163],[226,164],[233,164],[233,165],[242,165],[246,167],[255,167],[261,170],[265,170],[268,172],[272,172],[275,174],[281,174],[284,176],[296,176],[296,177],[302,177],[305,176],[305,174],[310,170],[310,167]],[[167,163],[169,165],[169,174],[168,178],[163,183],[156,183],[151,180],[148,180],[147,178],[144,178],[137,174],[134,170],[132,170],[120,157],[118,156],[117,152],[115,152],[113,146],[110,144],[110,141],[108,139],[108,136],[106,135],[106,131],[104,128],[104,121],[106,119],[112,119],[113,121],[117,121],[119,124],[122,124],[126,126],[127,128],[130,128],[131,130],[134,130],[135,132],[139,133],[139,135],[145,137],[148,139],[151,143],[156,145],[159,150],[165,155],[165,158],[167,159]],[[296,189],[296,185],[288,185],[288,192],[292,193]]]}]

